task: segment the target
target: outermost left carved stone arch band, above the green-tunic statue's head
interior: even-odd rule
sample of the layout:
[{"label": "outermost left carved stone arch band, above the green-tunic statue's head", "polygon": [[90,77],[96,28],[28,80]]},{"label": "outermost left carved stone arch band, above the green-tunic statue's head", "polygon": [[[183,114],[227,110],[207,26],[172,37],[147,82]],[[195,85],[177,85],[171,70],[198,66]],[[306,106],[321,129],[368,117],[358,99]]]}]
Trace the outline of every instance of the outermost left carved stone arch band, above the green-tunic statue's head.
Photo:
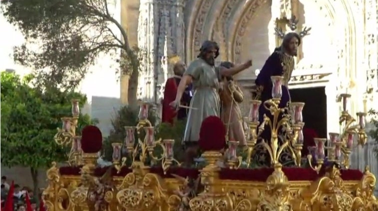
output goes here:
[{"label": "outermost left carved stone arch band, above the green-tunic statue's head", "polygon": [[193,26],[193,39],[192,39],[192,55],[191,59],[195,58],[195,53],[199,51],[201,44],[204,40],[202,39],[202,31],[203,26],[206,20],[207,13],[210,11],[211,4],[213,3],[213,0],[201,0],[201,3],[199,5],[199,11],[197,12],[197,15],[195,16],[195,23]]}]

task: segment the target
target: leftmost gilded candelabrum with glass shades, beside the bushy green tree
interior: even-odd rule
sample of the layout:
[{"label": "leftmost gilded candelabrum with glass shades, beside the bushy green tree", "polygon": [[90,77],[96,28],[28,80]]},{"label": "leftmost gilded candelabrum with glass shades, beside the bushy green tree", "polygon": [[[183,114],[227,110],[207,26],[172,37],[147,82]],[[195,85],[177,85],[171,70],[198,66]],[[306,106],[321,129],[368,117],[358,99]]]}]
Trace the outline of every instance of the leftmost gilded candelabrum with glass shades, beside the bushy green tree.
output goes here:
[{"label": "leftmost gilded candelabrum with glass shades, beside the bushy green tree", "polygon": [[71,145],[68,153],[68,163],[71,166],[81,165],[81,137],[76,135],[77,121],[79,119],[79,101],[72,100],[72,117],[62,117],[62,127],[57,128],[54,140],[58,145]]}]

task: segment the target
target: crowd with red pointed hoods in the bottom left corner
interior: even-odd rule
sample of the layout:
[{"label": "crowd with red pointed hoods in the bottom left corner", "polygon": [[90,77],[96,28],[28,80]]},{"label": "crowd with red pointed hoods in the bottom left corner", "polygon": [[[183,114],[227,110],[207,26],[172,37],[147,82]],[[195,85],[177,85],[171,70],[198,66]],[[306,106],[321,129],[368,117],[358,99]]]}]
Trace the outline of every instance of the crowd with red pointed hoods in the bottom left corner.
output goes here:
[{"label": "crowd with red pointed hoods in the bottom left corner", "polygon": [[9,185],[6,177],[1,177],[1,211],[45,211],[41,200],[37,207],[36,197],[29,187],[21,188],[13,181]]}]

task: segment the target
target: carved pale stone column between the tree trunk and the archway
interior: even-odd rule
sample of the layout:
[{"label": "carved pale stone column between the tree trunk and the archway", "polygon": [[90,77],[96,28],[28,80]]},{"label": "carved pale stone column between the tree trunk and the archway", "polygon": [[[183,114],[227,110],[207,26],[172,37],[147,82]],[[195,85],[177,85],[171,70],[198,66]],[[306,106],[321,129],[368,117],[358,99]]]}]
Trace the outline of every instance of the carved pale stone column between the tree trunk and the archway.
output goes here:
[{"label": "carved pale stone column between the tree trunk and the archway", "polygon": [[142,56],[138,98],[159,105],[169,58],[184,57],[184,0],[140,0],[138,46]]}]

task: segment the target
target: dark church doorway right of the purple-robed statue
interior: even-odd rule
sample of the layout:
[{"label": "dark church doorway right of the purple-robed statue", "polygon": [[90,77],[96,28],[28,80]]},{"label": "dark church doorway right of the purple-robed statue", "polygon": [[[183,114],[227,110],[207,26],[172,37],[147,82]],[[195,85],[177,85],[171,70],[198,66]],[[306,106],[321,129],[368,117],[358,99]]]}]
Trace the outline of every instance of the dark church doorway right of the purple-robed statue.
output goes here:
[{"label": "dark church doorway right of the purple-robed statue", "polygon": [[319,137],[327,137],[327,97],[325,87],[291,89],[292,102],[303,102],[305,128],[314,129]]}]

